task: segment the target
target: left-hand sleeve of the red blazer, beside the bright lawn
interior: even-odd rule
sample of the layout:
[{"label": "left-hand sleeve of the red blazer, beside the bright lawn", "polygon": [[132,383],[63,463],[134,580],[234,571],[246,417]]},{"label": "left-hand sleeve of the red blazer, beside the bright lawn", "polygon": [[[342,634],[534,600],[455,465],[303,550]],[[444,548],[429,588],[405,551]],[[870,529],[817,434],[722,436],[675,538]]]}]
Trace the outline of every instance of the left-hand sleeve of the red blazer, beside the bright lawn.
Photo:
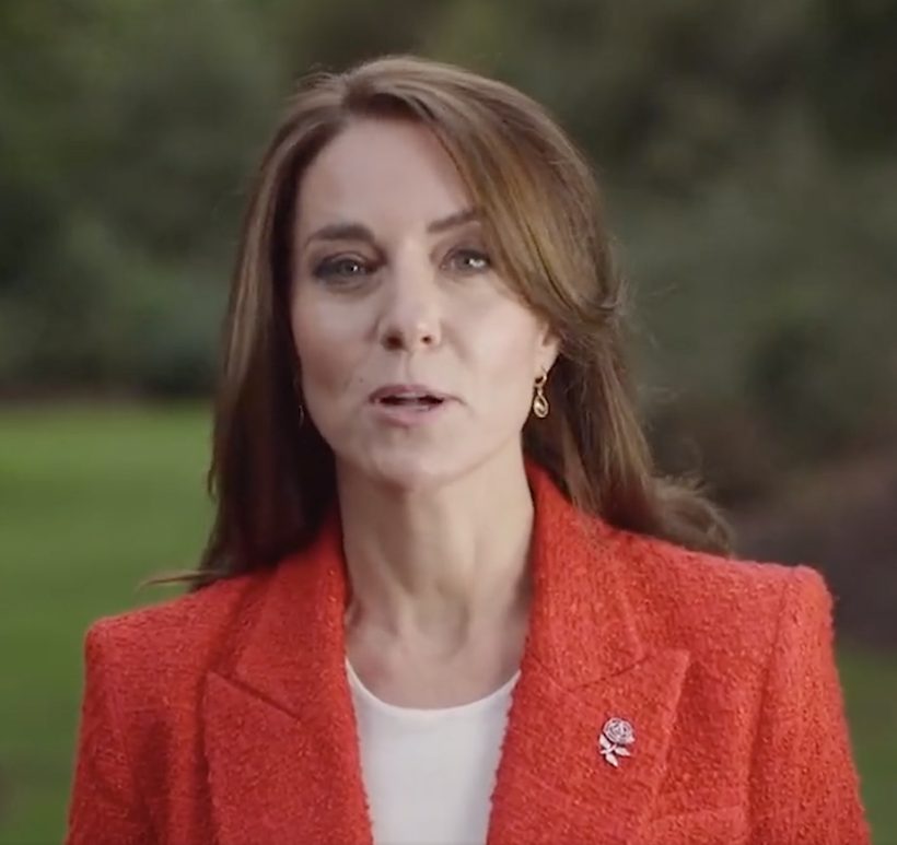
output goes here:
[{"label": "left-hand sleeve of the red blazer, beside the bright lawn", "polygon": [[154,837],[140,805],[123,725],[115,705],[112,644],[103,623],[88,632],[81,726],[69,805],[67,845],[150,845]]}]

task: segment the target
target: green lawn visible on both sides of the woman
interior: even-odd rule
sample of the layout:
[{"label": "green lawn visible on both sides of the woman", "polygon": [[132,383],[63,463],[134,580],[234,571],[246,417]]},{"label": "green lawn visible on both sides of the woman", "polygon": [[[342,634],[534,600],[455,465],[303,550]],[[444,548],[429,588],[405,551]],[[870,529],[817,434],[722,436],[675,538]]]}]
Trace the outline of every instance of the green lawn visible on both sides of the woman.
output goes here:
[{"label": "green lawn visible on both sides of the woman", "polygon": [[[0,413],[0,842],[65,830],[81,647],[100,617],[172,595],[139,582],[191,566],[210,506],[205,408]],[[897,843],[897,658],[839,656],[877,845]]]}]

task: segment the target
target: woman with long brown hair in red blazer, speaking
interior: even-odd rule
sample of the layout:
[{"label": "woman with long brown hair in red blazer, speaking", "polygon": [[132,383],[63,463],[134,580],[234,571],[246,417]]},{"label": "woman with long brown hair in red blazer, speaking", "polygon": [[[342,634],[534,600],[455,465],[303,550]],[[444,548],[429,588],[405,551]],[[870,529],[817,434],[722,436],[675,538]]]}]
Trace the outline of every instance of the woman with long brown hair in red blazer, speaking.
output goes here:
[{"label": "woman with long brown hair in red blazer, speaking", "polygon": [[654,477],[589,167],[413,58],[261,164],[189,596],[96,623],[68,841],[867,842],[806,567]]}]

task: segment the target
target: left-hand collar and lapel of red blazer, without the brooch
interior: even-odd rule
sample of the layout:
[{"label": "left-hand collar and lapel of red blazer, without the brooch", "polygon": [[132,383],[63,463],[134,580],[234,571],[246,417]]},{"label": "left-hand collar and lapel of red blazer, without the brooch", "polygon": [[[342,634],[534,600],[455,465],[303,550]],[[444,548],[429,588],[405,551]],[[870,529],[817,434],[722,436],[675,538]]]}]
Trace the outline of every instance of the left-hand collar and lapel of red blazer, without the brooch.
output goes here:
[{"label": "left-hand collar and lapel of red blazer, without the brooch", "polygon": [[371,845],[346,681],[338,519],[280,563],[231,666],[209,672],[205,746],[220,845]]}]

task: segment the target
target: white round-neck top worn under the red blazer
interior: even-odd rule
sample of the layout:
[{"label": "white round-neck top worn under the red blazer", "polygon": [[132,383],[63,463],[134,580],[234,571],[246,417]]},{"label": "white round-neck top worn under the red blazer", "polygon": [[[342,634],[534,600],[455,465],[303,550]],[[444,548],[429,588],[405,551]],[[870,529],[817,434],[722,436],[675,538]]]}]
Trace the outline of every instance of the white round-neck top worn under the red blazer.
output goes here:
[{"label": "white round-neck top worn under the red blazer", "polygon": [[520,670],[456,707],[377,699],[346,660],[375,845],[484,845],[511,693]]}]

